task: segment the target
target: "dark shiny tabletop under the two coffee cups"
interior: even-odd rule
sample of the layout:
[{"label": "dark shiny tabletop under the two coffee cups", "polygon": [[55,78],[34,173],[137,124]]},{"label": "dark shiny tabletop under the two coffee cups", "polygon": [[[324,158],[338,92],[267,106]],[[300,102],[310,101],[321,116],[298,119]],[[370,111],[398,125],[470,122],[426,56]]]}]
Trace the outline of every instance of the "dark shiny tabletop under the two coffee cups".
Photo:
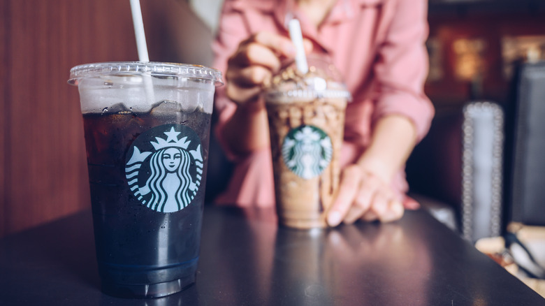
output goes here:
[{"label": "dark shiny tabletop under the two coffee cups", "polygon": [[91,212],[80,212],[0,240],[0,305],[545,305],[422,210],[297,231],[272,210],[207,206],[202,241],[194,286],[112,298],[99,289]]}]

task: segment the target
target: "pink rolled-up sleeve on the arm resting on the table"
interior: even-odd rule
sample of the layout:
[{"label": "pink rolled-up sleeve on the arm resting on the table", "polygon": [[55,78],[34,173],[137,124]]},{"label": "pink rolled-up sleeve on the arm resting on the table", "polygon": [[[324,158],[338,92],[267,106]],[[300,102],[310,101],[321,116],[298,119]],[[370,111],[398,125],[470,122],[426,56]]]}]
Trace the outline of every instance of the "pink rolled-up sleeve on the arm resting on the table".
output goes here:
[{"label": "pink rolled-up sleeve on the arm resting on the table", "polygon": [[399,0],[391,8],[391,24],[379,46],[375,78],[377,105],[373,122],[384,115],[404,115],[416,128],[421,140],[430,127],[435,113],[423,92],[428,74],[427,1]]}]

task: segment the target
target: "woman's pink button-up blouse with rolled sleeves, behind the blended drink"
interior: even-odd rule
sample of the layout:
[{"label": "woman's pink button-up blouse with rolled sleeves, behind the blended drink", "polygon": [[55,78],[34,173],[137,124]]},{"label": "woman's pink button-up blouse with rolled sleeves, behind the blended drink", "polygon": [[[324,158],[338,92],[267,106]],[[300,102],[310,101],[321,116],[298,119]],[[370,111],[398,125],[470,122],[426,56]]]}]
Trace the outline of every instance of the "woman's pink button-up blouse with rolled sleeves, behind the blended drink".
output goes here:
[{"label": "woman's pink button-up blouse with rolled sleeves, behind the blended drink", "polygon": [[[403,115],[414,123],[418,140],[428,132],[433,105],[423,93],[428,73],[426,0],[338,0],[318,29],[296,9],[294,0],[226,0],[213,45],[214,67],[226,72],[227,59],[240,41],[258,31],[288,36],[287,22],[300,20],[313,52],[325,54],[344,77],[353,96],[346,112],[341,161],[354,163],[370,142],[373,125],[384,115]],[[233,115],[236,105],[217,89],[216,132]],[[270,150],[236,156],[221,133],[219,142],[235,161],[227,190],[216,202],[265,207],[275,204]],[[393,182],[400,197],[407,191],[400,169]]]}]

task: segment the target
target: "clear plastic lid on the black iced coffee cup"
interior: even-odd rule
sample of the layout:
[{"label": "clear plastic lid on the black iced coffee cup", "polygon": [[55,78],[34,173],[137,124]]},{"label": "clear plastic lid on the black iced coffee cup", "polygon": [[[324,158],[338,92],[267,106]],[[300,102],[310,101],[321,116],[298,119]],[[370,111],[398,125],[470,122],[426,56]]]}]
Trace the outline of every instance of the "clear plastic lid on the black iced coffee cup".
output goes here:
[{"label": "clear plastic lid on the black iced coffee cup", "polygon": [[70,70],[68,84],[78,85],[82,78],[105,75],[152,75],[156,77],[181,77],[208,80],[215,86],[224,84],[221,72],[192,64],[159,63],[154,61],[116,61],[75,66]]}]

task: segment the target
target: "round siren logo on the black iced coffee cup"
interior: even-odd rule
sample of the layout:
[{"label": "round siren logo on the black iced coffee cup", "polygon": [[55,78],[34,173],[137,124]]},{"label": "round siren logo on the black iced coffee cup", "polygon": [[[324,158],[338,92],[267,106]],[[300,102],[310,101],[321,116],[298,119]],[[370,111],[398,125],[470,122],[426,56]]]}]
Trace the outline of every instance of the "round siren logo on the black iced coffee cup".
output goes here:
[{"label": "round siren logo on the black iced coffee cup", "polygon": [[140,203],[157,212],[187,207],[201,185],[201,140],[187,126],[166,124],[145,131],[127,156],[129,188]]}]

